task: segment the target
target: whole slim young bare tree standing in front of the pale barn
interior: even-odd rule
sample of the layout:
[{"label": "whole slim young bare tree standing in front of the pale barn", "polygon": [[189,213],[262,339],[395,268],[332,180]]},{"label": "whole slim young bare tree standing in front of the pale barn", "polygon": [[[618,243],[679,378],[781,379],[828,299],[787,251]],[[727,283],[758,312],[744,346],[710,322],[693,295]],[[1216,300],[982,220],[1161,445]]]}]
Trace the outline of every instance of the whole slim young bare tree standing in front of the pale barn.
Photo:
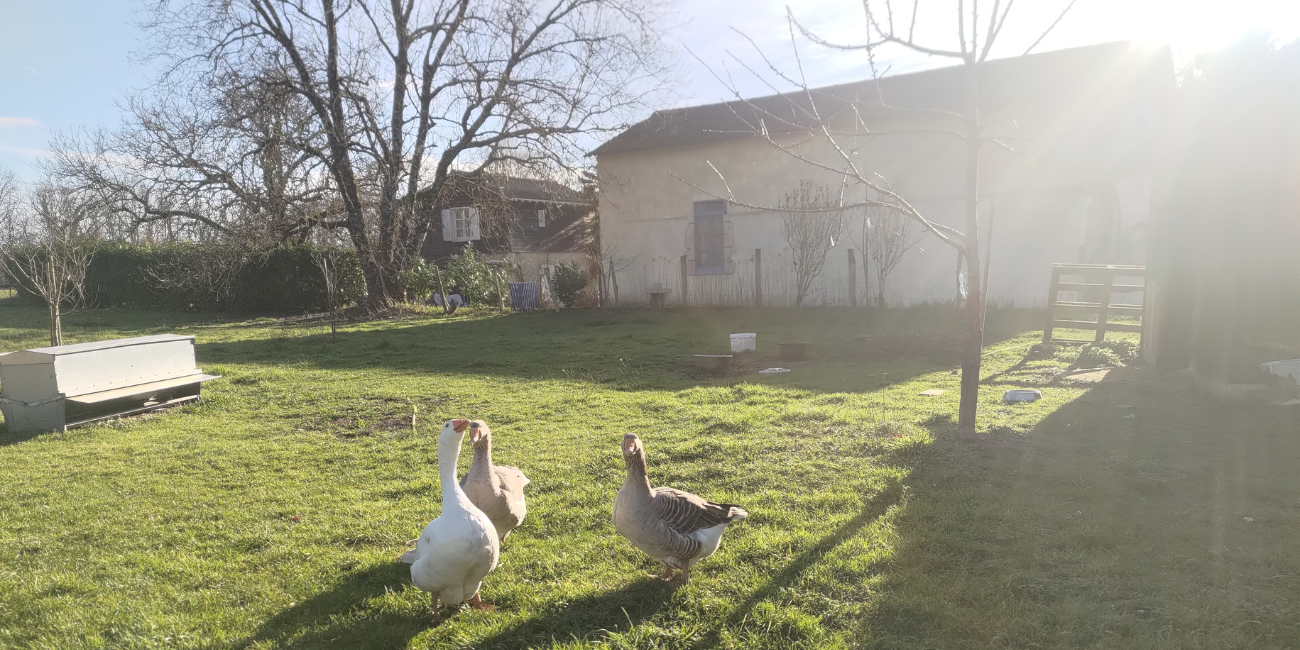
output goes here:
[{"label": "whole slim young bare tree standing in front of the pale barn", "polygon": [[[979,172],[980,151],[985,144],[1015,151],[1011,143],[1017,139],[1014,133],[1006,133],[1005,122],[985,124],[979,113],[979,70],[993,52],[1002,29],[1006,26],[1008,16],[1011,13],[1014,0],[1002,3],[992,0],[983,6],[989,12],[982,13],[978,0],[957,0],[953,3],[953,16],[957,18],[953,25],[956,39],[953,44],[931,44],[916,40],[916,18],[919,0],[910,3],[910,10],[896,8],[889,0],[872,1],[863,0],[864,35],[861,43],[841,44],[832,43],[812,31],[805,29],[794,18],[793,10],[788,9],[788,22],[790,27],[790,40],[794,43],[794,34],[800,32],[815,44],[841,49],[863,52],[867,56],[874,79],[880,79],[881,73],[876,65],[878,57],[889,48],[910,51],[913,53],[930,57],[952,58],[963,70],[959,108],[901,108],[892,105],[880,90],[880,83],[875,84],[878,96],[868,103],[861,103],[840,96],[831,96],[810,87],[807,77],[803,74],[802,62],[796,56],[798,72],[786,74],[770,60],[763,57],[767,73],[755,73],[762,78],[771,79],[768,84],[775,90],[774,82],[786,83],[796,87],[794,92],[783,94],[788,103],[779,110],[764,108],[745,100],[737,86],[729,77],[719,75],[719,79],[728,84],[731,92],[745,107],[744,112],[737,112],[737,120],[745,124],[745,130],[763,138],[775,150],[809,165],[812,170],[819,170],[826,176],[835,176],[845,183],[864,186],[872,194],[862,203],[845,204],[845,208],[858,208],[879,205],[894,211],[909,220],[915,221],[924,231],[939,238],[940,242],[954,248],[965,259],[967,269],[980,268],[980,242],[979,242]],[[1049,25],[1034,43],[1023,52],[1028,55],[1044,38],[1065,18],[1074,6],[1071,0],[1060,16]],[[980,29],[983,27],[983,31]],[[954,47],[956,46],[956,47]],[[755,46],[757,47],[757,46]],[[762,56],[762,52],[759,52]],[[796,55],[798,48],[796,47]],[[1022,55],[1022,56],[1023,56]],[[745,65],[744,61],[737,61]],[[749,66],[746,66],[749,68]],[[749,68],[753,70],[751,68]],[[906,117],[901,129],[871,129],[868,122],[879,116]],[[1014,125],[1013,125],[1014,126]],[[781,134],[805,133],[807,138],[792,143]],[[913,205],[904,195],[890,190],[880,182],[875,172],[866,168],[864,161],[858,155],[863,147],[863,140],[888,134],[924,134],[933,138],[949,138],[953,143],[965,147],[965,224],[962,229],[954,229],[937,224],[928,218],[920,209]],[[810,143],[820,143],[831,152],[831,160],[822,160],[809,153]],[[716,169],[716,168],[715,168]],[[725,173],[718,170],[725,187]],[[689,183],[688,185],[694,185]],[[694,185],[698,190],[707,192]],[[711,192],[708,192],[711,194]],[[727,190],[727,199],[734,204],[754,208],[779,211],[771,205],[758,205],[746,202],[744,198],[732,195]],[[962,387],[961,406],[958,408],[957,425],[962,434],[975,432],[975,416],[979,404],[979,372],[980,355],[984,341],[984,324],[982,317],[983,286],[978,273],[966,274],[966,307],[965,307],[965,335],[962,344]]]}]

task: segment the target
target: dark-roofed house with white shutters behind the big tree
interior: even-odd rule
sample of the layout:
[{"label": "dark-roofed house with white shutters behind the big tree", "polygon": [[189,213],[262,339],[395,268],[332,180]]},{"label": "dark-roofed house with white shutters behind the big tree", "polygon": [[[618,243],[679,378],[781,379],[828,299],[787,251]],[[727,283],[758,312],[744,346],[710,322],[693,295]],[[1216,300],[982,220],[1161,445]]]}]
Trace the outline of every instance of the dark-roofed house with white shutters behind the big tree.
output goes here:
[{"label": "dark-roofed house with white shutters behind the big tree", "polygon": [[472,246],[491,260],[507,261],[512,277],[541,281],[562,263],[586,266],[595,205],[581,192],[549,179],[454,177],[442,198],[421,196],[437,217],[422,256],[445,261]]}]

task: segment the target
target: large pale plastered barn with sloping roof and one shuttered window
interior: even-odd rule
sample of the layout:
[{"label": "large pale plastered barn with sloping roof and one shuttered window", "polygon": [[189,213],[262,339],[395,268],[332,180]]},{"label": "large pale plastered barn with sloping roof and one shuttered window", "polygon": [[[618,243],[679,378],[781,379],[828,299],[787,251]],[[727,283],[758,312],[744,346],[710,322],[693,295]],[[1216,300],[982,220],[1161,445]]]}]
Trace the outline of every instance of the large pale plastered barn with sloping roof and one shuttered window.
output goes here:
[{"label": "large pale plastered barn with sloping roof and one shuttered window", "polygon": [[[1143,264],[1147,148],[1174,88],[1169,49],[1114,43],[989,61],[979,88],[991,304],[1044,306],[1053,263]],[[751,306],[760,292],[764,306],[793,306],[780,207],[801,183],[863,200],[867,188],[837,172],[848,161],[888,179],[928,220],[961,230],[966,146],[953,135],[953,112],[963,90],[965,72],[946,68],[659,110],[633,125],[593,152],[601,248],[618,300],[668,294],[668,304]],[[812,129],[814,108],[832,138]],[[870,304],[866,217],[842,214],[802,304]],[[958,254],[919,226],[914,235],[888,277],[887,303],[958,299]]]}]

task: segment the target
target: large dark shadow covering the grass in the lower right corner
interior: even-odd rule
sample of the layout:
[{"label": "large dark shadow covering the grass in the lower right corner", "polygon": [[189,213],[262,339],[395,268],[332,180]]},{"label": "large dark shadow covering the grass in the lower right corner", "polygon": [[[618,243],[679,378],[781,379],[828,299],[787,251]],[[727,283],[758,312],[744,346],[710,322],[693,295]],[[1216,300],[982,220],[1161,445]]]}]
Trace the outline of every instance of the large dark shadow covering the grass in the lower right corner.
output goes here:
[{"label": "large dark shadow covering the grass in the lower right corner", "polygon": [[[1286,534],[1294,499],[1275,497],[1300,494],[1296,430],[1300,413],[1118,369],[1030,432],[936,434],[907,478],[888,580],[858,641],[1292,647],[1300,627],[1280,618],[1231,621],[1249,606],[1269,621],[1258,603],[1291,598],[1256,567],[1300,549]],[[1205,580],[1216,572],[1236,578]]]}]

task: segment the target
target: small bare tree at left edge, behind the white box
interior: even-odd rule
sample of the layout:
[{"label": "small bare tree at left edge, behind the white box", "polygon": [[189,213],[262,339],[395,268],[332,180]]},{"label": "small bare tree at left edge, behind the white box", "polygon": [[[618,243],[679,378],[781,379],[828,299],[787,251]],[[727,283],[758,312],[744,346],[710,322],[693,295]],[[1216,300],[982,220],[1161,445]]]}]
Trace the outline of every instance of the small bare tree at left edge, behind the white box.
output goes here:
[{"label": "small bare tree at left edge, behind the white box", "polygon": [[86,269],[95,255],[100,205],[83,192],[43,183],[31,191],[23,222],[0,243],[0,270],[49,309],[49,344],[64,342],[61,309],[86,303]]}]

